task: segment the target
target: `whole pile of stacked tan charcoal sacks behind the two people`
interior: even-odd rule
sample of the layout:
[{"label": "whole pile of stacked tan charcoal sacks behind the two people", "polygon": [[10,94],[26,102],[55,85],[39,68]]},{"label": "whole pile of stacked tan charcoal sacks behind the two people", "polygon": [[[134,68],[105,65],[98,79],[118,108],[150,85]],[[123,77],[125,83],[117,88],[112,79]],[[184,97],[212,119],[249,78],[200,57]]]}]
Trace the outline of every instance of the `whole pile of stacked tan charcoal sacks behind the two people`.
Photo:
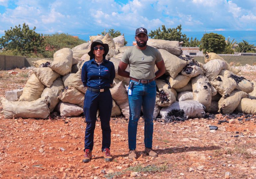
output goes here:
[{"label": "whole pile of stacked tan charcoal sacks behind the two people", "polygon": [[[89,60],[87,53],[91,42],[97,39],[109,45],[106,59],[114,63],[116,71],[114,87],[110,90],[113,98],[111,116],[123,114],[129,118],[126,90],[129,78],[119,76],[117,68],[130,46],[124,46],[124,35],[112,39],[109,34],[90,36],[88,43],[72,49],[63,48],[54,54],[53,61],[34,62],[37,68],[33,68],[20,98],[17,101],[0,98],[5,118],[45,119],[54,111],[62,117],[79,116],[83,112],[86,92],[81,82],[81,67]],[[178,41],[149,39],[147,44],[159,49],[166,66],[165,76],[156,80],[159,92],[154,117],[161,114],[163,119],[171,121],[202,117],[205,111],[231,113],[234,110],[256,114],[255,107],[250,105],[256,101],[255,86],[236,76],[238,71],[218,55],[207,54],[206,64],[201,64],[183,56]],[[129,70],[128,66],[126,71]]]}]

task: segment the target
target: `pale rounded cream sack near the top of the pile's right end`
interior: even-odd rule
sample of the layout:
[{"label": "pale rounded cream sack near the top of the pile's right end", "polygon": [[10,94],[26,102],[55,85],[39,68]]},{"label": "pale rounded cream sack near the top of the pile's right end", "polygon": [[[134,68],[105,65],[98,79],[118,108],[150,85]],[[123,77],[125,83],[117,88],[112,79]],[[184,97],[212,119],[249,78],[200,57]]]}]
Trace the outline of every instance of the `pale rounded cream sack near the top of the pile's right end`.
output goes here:
[{"label": "pale rounded cream sack near the top of the pile's right end", "polygon": [[225,61],[214,59],[204,64],[202,70],[205,76],[210,81],[212,81],[216,76],[219,75],[221,70],[225,70],[226,68],[227,64],[225,63]]}]

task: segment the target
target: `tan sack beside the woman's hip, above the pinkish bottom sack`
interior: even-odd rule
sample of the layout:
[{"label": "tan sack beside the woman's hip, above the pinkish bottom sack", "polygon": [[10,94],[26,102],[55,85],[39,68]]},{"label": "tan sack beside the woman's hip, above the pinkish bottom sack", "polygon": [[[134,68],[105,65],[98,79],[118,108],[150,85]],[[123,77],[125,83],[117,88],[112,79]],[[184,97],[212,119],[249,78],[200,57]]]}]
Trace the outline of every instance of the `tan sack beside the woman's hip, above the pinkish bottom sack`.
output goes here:
[{"label": "tan sack beside the woman's hip, above the pinkish bottom sack", "polygon": [[57,98],[63,102],[76,104],[83,108],[84,93],[76,90],[74,87],[67,87],[67,89],[65,88]]}]

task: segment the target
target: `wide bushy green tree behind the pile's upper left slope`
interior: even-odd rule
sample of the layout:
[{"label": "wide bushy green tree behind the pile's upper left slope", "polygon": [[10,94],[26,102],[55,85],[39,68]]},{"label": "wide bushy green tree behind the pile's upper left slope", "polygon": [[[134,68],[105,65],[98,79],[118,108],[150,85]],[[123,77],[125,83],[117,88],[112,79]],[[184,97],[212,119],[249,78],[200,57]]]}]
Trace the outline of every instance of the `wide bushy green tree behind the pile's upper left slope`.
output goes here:
[{"label": "wide bushy green tree behind the pile's upper left slope", "polygon": [[62,48],[73,48],[86,41],[67,33],[54,33],[44,35],[44,49],[42,53],[45,58],[53,57],[53,54]]}]

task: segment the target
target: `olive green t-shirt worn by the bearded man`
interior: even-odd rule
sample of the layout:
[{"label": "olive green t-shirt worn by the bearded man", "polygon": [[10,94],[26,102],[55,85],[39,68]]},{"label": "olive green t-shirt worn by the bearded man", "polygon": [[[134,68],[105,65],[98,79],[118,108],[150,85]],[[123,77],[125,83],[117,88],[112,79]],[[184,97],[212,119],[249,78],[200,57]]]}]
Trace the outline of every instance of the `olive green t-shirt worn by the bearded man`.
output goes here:
[{"label": "olive green t-shirt worn by the bearded man", "polygon": [[139,80],[155,78],[155,64],[163,60],[161,53],[154,47],[148,46],[140,50],[133,46],[124,52],[122,62],[129,64],[130,77]]}]

